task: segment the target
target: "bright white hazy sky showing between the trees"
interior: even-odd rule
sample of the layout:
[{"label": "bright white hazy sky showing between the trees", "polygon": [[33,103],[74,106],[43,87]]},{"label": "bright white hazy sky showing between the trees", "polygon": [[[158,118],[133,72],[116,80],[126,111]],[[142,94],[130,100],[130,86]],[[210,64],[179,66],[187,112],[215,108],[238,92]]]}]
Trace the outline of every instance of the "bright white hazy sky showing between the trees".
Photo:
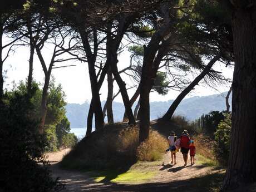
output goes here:
[{"label": "bright white hazy sky showing between the trees", "polygon": [[[47,48],[43,51],[43,55],[47,60],[51,58],[51,48]],[[28,75],[28,58],[29,58],[29,48],[19,47],[14,53],[11,53],[6,62],[4,63],[4,70],[7,70],[6,80],[4,82],[5,88],[11,88],[13,81],[18,83],[21,80],[26,80]],[[119,57],[119,70],[129,65],[130,53],[128,51],[122,52]],[[61,83],[63,90],[66,93],[66,101],[69,103],[79,103],[82,104],[86,100],[91,99],[91,87],[90,79],[88,76],[87,63],[68,61],[66,63],[58,63],[56,66],[63,65],[76,65],[74,67],[58,68],[53,69],[52,75],[56,78],[56,83]],[[215,63],[214,69],[223,72],[223,75],[227,78],[232,78],[233,69],[225,67],[221,63]],[[130,78],[122,76],[126,81],[127,85],[134,85]],[[33,67],[33,78],[36,81],[43,82],[44,73],[40,62],[38,61],[37,55],[35,54],[35,62]],[[190,93],[189,96],[205,96],[211,95],[219,92],[224,92],[229,90],[230,84],[225,86],[216,86],[218,91],[210,88],[209,86],[202,85],[200,83],[195,87],[195,90]],[[115,85],[114,92],[118,91],[117,85]],[[129,96],[131,97],[134,93],[134,89],[129,90]],[[106,81],[102,85],[101,90],[101,100],[106,100],[107,97],[107,85]],[[167,101],[170,99],[175,99],[178,96],[178,91],[170,90],[165,96],[158,95],[156,92],[152,92],[150,95],[150,101]],[[122,101],[121,95],[117,96],[115,101]]]}]

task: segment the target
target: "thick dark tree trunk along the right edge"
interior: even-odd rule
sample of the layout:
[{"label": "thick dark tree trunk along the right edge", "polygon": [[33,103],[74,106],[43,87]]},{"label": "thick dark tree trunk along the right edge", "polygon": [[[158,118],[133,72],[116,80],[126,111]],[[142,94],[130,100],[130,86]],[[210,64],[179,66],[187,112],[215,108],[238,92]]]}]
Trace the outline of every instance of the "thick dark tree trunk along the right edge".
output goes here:
[{"label": "thick dark tree trunk along the right edge", "polygon": [[232,141],[228,169],[223,182],[224,191],[256,181],[255,4],[253,1],[232,3],[235,5],[232,18],[235,55],[232,83]]}]

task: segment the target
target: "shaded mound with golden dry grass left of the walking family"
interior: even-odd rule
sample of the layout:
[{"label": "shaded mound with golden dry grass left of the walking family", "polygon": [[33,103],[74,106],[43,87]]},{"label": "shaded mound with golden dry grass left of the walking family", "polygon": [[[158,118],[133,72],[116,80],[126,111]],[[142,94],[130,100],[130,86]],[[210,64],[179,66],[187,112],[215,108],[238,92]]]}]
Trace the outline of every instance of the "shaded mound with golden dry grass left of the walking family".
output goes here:
[{"label": "shaded mound with golden dry grass left of the walking family", "polygon": [[150,130],[149,139],[139,146],[139,128],[112,124],[83,138],[61,163],[79,170],[128,170],[137,160],[162,157],[168,143],[159,132]]}]

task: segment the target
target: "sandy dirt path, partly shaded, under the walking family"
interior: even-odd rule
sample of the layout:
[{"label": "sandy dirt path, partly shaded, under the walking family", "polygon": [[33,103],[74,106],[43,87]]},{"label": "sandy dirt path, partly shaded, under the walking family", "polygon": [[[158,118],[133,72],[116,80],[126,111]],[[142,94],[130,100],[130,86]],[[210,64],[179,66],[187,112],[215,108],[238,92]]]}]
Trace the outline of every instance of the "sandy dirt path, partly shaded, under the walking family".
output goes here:
[{"label": "sandy dirt path, partly shaded, under the walking family", "polygon": [[[213,168],[204,167],[203,165],[193,165],[184,167],[183,157],[180,152],[177,154],[177,164],[170,163],[170,154],[166,154],[162,162],[157,163],[137,163],[131,169],[142,170],[156,173],[154,177],[148,180],[136,179],[129,183],[112,183],[110,181],[100,181],[96,183],[87,173],[79,171],[62,170],[58,166],[69,149],[59,152],[48,153],[48,160],[51,161],[51,170],[53,177],[60,177],[66,184],[63,191],[180,191],[186,188],[189,180],[213,173]],[[190,164],[190,162],[189,162]],[[199,189],[188,189],[186,191],[200,191]],[[203,190],[202,190],[203,191]]]}]

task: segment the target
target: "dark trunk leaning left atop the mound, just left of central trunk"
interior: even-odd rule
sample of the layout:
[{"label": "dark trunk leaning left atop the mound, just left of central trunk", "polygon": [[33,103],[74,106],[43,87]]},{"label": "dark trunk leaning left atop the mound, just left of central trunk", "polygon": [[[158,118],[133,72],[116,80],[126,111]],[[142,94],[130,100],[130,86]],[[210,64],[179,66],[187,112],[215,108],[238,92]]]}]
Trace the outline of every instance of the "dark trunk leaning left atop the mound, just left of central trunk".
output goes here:
[{"label": "dark trunk leaning left atop the mound, just left of central trunk", "polygon": [[131,110],[131,104],[130,104],[130,100],[129,100],[129,96],[125,87],[125,82],[122,81],[122,78],[119,74],[119,71],[117,69],[117,53],[115,50],[113,50],[111,48],[111,70],[112,73],[115,77],[115,80],[117,82],[117,85],[119,86],[119,90],[121,92],[121,96],[122,96],[122,101],[124,102],[124,106],[125,106],[125,111],[127,113],[128,119],[129,119],[129,124],[136,124],[135,119],[134,119],[134,114],[132,113]]}]

